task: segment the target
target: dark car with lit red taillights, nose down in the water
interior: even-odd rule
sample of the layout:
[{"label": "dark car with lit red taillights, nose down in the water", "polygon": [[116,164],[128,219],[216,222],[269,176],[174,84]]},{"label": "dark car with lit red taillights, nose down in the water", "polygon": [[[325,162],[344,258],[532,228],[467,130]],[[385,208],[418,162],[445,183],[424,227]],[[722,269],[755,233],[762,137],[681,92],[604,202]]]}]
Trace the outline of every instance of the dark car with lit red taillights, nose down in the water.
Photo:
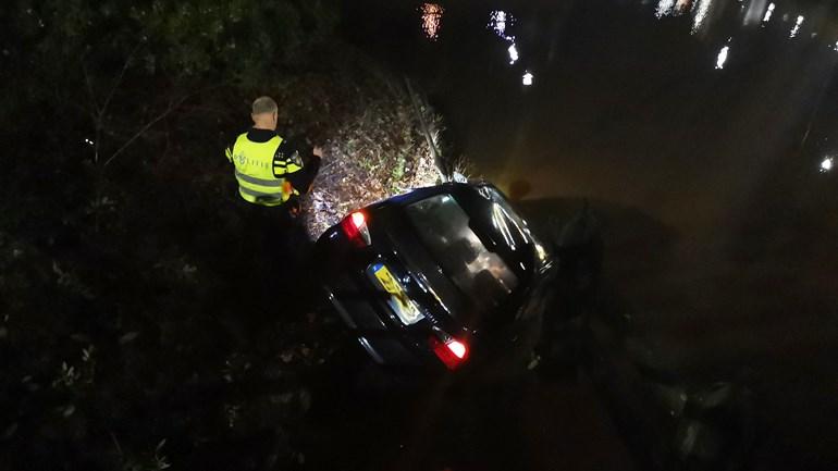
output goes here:
[{"label": "dark car with lit red taillights, nose down in the water", "polygon": [[537,342],[554,263],[488,183],[416,189],[317,243],[329,300],[381,364],[509,361]]}]

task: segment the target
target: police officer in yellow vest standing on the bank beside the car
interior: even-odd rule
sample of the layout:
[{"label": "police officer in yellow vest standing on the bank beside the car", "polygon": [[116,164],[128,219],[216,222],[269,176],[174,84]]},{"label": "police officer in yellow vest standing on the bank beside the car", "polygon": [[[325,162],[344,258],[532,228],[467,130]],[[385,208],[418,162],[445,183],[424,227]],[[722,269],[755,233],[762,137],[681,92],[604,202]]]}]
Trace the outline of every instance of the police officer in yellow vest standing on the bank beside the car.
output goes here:
[{"label": "police officer in yellow vest standing on the bank beside the car", "polygon": [[322,151],[315,147],[304,162],[299,148],[307,146],[295,146],[276,134],[278,113],[271,97],[254,100],[254,126],[239,135],[225,153],[235,165],[238,194],[245,201],[262,207],[285,206],[296,215],[297,198],[310,189]]}]

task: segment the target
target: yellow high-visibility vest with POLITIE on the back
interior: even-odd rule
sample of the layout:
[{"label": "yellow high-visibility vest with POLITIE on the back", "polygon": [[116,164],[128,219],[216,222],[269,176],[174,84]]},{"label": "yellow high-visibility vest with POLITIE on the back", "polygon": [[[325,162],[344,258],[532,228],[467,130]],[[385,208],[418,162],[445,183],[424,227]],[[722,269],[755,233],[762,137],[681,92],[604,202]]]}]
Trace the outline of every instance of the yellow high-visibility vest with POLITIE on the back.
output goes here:
[{"label": "yellow high-visibility vest with POLITIE on the back", "polygon": [[282,137],[273,136],[267,142],[254,142],[247,138],[247,133],[243,133],[236,138],[233,148],[226,149],[226,157],[235,166],[238,194],[245,201],[280,206],[292,195],[299,195],[282,175],[297,172],[301,166],[287,160],[274,159],[282,141]]}]

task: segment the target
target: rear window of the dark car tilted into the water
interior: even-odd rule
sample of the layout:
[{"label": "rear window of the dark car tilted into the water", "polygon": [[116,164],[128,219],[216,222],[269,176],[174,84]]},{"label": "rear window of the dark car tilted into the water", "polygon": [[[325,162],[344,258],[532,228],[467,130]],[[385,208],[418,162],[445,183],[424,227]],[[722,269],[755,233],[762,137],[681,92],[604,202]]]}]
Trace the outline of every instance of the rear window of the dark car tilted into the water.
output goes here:
[{"label": "rear window of the dark car tilted into the water", "polygon": [[506,262],[469,227],[468,214],[454,197],[436,195],[406,211],[419,239],[479,312],[497,308],[518,286]]}]

